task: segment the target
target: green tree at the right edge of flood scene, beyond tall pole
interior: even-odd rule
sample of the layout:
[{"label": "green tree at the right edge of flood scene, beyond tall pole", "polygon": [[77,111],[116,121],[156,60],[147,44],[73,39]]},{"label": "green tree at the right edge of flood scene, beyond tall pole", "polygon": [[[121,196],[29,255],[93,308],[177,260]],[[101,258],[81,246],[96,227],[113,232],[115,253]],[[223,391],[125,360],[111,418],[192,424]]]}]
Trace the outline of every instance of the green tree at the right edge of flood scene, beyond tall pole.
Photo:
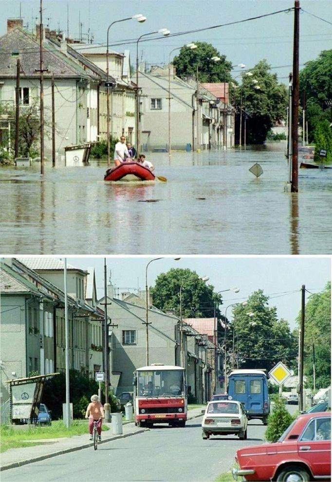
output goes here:
[{"label": "green tree at the right edge of flood scene, beyond tall pole", "polygon": [[299,76],[300,104],[305,107],[309,142],[314,140],[316,125],[332,122],[332,50],[305,64]]}]

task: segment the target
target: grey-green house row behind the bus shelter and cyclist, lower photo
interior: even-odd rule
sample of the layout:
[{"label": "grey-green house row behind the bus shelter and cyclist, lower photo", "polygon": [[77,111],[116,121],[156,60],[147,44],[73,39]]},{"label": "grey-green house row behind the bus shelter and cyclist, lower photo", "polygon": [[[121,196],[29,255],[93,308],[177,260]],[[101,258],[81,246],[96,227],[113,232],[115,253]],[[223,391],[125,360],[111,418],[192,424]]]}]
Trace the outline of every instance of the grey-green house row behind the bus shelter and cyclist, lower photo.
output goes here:
[{"label": "grey-green house row behind the bus shelter and cyclist, lower photo", "polygon": [[[1,260],[1,405],[9,396],[5,380],[66,368],[63,269],[54,259]],[[94,377],[102,366],[104,312],[89,276],[88,283],[87,271],[68,267],[69,368]]]}]

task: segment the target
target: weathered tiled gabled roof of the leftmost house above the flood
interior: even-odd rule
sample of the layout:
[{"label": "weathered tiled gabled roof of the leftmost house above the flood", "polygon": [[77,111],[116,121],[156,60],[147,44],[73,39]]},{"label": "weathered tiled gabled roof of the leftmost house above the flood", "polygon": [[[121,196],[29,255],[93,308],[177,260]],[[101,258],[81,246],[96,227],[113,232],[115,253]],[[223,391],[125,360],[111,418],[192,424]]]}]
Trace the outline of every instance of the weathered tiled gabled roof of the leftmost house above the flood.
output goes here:
[{"label": "weathered tiled gabled roof of the leftmost house above the flood", "polygon": [[[31,34],[20,28],[8,32],[0,37],[0,76],[16,77],[16,57],[13,53],[19,53],[22,75],[25,77],[39,77],[39,43]],[[70,61],[66,56],[52,49],[51,45],[45,41],[43,51],[44,76],[64,78],[86,78],[89,75],[78,64]],[[36,71],[37,70],[37,71]]]}]

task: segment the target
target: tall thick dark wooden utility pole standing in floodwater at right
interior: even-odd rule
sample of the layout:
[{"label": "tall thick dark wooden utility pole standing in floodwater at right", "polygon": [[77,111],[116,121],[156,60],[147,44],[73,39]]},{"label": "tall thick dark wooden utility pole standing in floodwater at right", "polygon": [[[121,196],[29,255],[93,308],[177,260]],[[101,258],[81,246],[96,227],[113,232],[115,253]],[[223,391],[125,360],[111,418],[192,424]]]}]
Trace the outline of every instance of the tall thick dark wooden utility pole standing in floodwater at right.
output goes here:
[{"label": "tall thick dark wooden utility pole standing in floodwater at right", "polygon": [[291,192],[298,191],[298,58],[299,58],[300,1],[294,5],[293,96],[292,96],[292,184]]}]

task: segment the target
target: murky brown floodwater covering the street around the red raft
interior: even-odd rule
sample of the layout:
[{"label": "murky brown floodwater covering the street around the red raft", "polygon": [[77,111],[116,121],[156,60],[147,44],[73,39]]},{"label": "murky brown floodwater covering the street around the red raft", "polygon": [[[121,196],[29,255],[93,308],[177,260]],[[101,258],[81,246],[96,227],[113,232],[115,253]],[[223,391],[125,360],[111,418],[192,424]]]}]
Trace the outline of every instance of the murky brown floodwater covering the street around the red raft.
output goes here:
[{"label": "murky brown floodwater covering the street around the red raft", "polygon": [[[150,153],[167,182],[105,182],[106,163],[0,168],[2,254],[331,254],[332,169],[267,149]],[[263,174],[249,168],[258,162]]]}]

